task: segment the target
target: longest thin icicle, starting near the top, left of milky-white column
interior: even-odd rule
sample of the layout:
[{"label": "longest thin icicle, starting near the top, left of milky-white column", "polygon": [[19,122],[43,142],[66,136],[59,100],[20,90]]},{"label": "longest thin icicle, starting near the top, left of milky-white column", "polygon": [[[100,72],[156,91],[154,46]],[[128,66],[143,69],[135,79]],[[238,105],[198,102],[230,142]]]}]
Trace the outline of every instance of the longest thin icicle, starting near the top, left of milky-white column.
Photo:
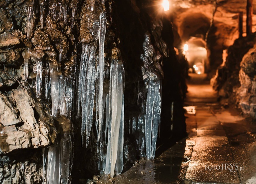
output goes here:
[{"label": "longest thin icicle, starting near the top, left of milky-white column", "polygon": [[99,35],[99,97],[98,97],[98,112],[99,112],[99,134],[98,134],[98,141],[101,136],[101,129],[103,123],[103,81],[104,81],[104,40],[106,34],[106,12],[101,12],[99,17],[100,21],[100,35]]}]

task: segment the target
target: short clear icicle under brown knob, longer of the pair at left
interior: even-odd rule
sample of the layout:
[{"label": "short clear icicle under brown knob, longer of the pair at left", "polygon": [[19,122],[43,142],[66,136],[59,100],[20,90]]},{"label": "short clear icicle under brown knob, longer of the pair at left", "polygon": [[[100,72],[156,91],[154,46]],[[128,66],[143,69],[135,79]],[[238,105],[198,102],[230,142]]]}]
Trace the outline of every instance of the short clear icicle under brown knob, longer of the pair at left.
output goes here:
[{"label": "short clear icicle under brown knob, longer of the pair at left", "polygon": [[45,53],[42,50],[30,50],[29,53],[36,62],[36,98],[39,98],[42,87],[42,57],[44,57]]}]

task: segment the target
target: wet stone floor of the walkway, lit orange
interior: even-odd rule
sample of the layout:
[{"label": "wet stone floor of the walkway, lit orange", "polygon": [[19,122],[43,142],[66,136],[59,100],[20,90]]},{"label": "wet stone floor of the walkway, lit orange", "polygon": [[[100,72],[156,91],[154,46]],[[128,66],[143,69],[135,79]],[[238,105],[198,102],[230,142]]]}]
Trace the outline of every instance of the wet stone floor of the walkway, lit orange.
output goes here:
[{"label": "wet stone floor of the walkway, lit orange", "polygon": [[[188,137],[154,161],[141,160],[128,171],[97,183],[256,184],[256,123],[235,107],[223,108],[211,86],[198,79],[188,85],[185,105]],[[200,93],[198,93],[200,91]]]}]

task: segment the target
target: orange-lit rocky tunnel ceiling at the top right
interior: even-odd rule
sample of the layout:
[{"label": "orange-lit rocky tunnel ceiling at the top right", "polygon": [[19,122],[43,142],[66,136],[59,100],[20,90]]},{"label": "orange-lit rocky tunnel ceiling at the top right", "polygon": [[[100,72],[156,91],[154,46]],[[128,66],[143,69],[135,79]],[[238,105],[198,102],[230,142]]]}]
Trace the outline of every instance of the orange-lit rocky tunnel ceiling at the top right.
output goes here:
[{"label": "orange-lit rocky tunnel ceiling at the top right", "polygon": [[[171,16],[174,28],[185,42],[189,36],[203,34],[209,28],[214,12],[215,1],[175,0],[172,3]],[[214,34],[216,49],[233,44],[238,38],[238,13],[243,12],[243,32],[246,31],[246,0],[217,0],[214,15]],[[253,4],[252,32],[256,31],[256,2]]]}]

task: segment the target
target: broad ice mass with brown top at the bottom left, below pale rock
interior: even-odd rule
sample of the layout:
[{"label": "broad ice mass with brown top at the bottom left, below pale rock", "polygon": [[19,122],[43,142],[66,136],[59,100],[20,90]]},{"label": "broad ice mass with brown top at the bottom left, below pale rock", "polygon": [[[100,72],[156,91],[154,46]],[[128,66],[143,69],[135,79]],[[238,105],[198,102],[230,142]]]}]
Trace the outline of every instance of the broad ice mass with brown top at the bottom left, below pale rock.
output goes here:
[{"label": "broad ice mass with brown top at the bottom left, below pale rock", "polygon": [[54,145],[43,148],[43,183],[68,184],[72,169],[71,122],[64,116],[57,119],[61,128]]}]

